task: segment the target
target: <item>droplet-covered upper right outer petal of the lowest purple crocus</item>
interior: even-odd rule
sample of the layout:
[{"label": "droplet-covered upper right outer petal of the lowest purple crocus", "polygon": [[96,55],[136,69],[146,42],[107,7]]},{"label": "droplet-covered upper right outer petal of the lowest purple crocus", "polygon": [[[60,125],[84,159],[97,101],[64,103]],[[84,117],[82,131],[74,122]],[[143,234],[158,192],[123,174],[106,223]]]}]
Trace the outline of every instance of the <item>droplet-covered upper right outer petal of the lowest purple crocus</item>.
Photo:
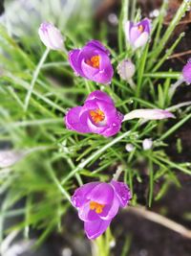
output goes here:
[{"label": "droplet-covered upper right outer petal of the lowest purple crocus", "polygon": [[131,192],[128,186],[123,182],[118,182],[116,180],[112,180],[111,185],[113,186],[117,198],[120,202],[121,207],[125,207],[129,200],[131,199]]}]

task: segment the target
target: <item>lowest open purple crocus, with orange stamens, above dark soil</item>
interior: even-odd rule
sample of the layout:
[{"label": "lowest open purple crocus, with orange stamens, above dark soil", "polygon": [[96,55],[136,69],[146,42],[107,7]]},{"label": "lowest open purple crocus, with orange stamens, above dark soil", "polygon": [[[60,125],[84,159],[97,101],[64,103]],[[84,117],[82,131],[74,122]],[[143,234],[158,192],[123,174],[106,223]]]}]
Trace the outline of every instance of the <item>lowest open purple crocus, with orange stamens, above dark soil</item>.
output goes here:
[{"label": "lowest open purple crocus, with orange stamens, above dark soil", "polygon": [[76,189],[72,202],[78,217],[84,221],[89,239],[100,236],[117,215],[119,207],[127,206],[131,199],[128,186],[112,180],[110,183],[91,182]]}]

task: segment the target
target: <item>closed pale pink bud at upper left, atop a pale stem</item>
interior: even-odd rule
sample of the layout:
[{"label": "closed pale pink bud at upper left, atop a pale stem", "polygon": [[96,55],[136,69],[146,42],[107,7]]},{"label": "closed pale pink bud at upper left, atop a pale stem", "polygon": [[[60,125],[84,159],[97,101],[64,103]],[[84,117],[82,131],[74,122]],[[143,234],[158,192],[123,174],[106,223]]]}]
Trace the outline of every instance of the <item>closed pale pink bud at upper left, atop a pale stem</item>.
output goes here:
[{"label": "closed pale pink bud at upper left, atop a pale stem", "polygon": [[63,49],[63,36],[52,23],[43,22],[38,30],[38,35],[47,48],[51,50]]}]

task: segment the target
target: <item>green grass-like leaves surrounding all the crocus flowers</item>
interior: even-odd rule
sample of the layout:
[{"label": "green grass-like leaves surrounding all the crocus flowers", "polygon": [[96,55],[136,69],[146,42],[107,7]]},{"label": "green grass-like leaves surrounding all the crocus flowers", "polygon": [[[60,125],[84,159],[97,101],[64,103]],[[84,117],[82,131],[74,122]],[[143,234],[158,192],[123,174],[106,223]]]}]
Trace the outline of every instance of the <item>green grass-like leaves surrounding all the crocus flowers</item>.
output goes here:
[{"label": "green grass-like leaves surrounding all the crocus flowers", "polygon": [[[53,229],[64,232],[61,219],[71,207],[70,195],[74,189],[87,180],[110,180],[118,165],[123,166],[124,182],[131,188],[133,205],[137,204],[134,180],[142,182],[139,162],[147,165],[148,206],[153,200],[159,200],[172,182],[180,186],[179,172],[191,175],[190,163],[173,162],[165,152],[167,139],[191,118],[190,103],[172,105],[168,90],[179,79],[180,73],[174,72],[173,67],[164,72],[160,68],[184,36],[180,34],[173,45],[165,53],[162,52],[181,16],[187,11],[188,3],[184,1],[181,4],[163,33],[162,23],[168,6],[164,1],[159,16],[152,22],[151,41],[144,48],[132,52],[125,42],[123,23],[128,18],[138,21],[140,11],[135,8],[135,0],[132,6],[129,6],[128,0],[122,2],[116,49],[110,49],[104,26],[94,34],[88,7],[84,12],[74,13],[67,26],[60,27],[60,30],[66,36],[67,50],[80,47],[92,38],[101,40],[111,50],[115,70],[120,60],[131,58],[137,68],[135,90],[127,81],[121,81],[117,72],[112,84],[105,87],[75,77],[66,56],[54,51],[49,53],[32,87],[35,68],[45,51],[37,35],[38,28],[29,40],[27,35],[15,37],[9,34],[6,26],[0,27],[0,142],[9,144],[15,151],[31,150],[15,165],[0,170],[0,194],[3,198],[1,242],[12,230],[23,232],[26,238],[29,238],[31,228],[43,230],[37,244]],[[32,94],[26,108],[26,97],[31,87]],[[176,119],[150,121],[143,125],[139,121],[128,121],[112,138],[97,134],[82,135],[66,129],[63,116],[67,109],[81,105],[91,91],[100,88],[114,99],[122,113],[136,108],[163,108],[171,110]],[[153,139],[152,150],[142,150],[144,138]],[[127,143],[134,145],[135,150],[127,152]],[[162,180],[162,186],[154,195],[158,180]],[[20,201],[22,208],[15,207]],[[21,217],[19,221],[6,229],[5,221],[17,216]]]}]

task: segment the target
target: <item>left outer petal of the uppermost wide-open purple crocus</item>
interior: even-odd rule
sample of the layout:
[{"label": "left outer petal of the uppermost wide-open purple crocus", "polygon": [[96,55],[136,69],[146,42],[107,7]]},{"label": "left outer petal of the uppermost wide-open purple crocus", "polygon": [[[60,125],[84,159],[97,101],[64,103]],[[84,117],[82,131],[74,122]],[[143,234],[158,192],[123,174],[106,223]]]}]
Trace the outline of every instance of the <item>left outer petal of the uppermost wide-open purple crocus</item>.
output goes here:
[{"label": "left outer petal of the uppermost wide-open purple crocus", "polygon": [[81,77],[84,77],[83,71],[81,70],[81,62],[79,61],[81,50],[75,49],[69,52],[69,61],[74,69],[74,72]]}]

